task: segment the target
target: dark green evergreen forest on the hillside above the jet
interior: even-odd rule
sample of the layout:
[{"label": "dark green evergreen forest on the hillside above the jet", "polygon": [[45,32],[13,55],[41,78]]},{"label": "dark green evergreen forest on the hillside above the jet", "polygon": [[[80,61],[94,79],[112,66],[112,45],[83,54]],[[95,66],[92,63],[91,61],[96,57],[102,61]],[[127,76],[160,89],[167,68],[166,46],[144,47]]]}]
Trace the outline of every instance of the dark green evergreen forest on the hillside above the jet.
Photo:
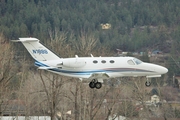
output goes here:
[{"label": "dark green evergreen forest on the hillside above the jet", "polygon": [[[179,6],[179,0],[1,0],[0,32],[41,40],[55,29],[75,40],[85,32],[110,49],[164,51],[167,41],[180,39]],[[111,28],[104,30],[106,23]]]}]

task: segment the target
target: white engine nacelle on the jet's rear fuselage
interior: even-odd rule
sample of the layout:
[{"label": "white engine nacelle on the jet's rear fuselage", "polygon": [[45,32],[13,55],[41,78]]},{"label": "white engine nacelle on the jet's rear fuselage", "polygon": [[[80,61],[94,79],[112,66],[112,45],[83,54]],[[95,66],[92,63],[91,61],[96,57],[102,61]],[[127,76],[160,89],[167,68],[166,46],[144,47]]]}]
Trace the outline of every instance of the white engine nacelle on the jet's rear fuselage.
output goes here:
[{"label": "white engine nacelle on the jet's rear fuselage", "polygon": [[83,59],[67,59],[62,63],[65,67],[79,68],[86,65],[86,61]]}]

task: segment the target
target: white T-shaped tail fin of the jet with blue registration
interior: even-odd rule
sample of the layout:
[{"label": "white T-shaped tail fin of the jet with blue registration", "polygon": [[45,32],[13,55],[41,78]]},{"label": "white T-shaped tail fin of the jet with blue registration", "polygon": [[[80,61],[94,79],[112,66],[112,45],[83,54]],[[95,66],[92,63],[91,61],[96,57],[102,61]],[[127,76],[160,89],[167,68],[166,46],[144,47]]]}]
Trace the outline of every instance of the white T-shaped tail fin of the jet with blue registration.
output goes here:
[{"label": "white T-shaped tail fin of the jet with blue registration", "polygon": [[22,42],[22,44],[36,61],[60,59],[56,54],[39,43],[37,38],[19,38],[19,40],[12,40],[12,42]]}]

